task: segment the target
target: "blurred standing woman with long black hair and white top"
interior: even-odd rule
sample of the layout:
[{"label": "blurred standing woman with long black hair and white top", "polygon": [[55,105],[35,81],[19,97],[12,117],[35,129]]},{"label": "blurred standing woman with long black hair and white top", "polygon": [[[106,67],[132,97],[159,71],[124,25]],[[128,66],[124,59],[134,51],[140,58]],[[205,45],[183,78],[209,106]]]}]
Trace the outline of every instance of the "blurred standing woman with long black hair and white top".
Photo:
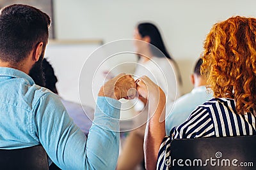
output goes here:
[{"label": "blurred standing woman with long black hair and white top", "polygon": [[[173,102],[180,96],[181,76],[175,60],[164,46],[163,39],[156,25],[144,22],[134,30],[134,46],[139,60],[134,79],[147,75],[159,85],[166,94],[166,115],[172,110]],[[134,131],[129,132],[118,159],[118,170],[136,169],[143,162],[143,141],[145,125],[148,120],[147,100],[139,99],[134,105]]]}]

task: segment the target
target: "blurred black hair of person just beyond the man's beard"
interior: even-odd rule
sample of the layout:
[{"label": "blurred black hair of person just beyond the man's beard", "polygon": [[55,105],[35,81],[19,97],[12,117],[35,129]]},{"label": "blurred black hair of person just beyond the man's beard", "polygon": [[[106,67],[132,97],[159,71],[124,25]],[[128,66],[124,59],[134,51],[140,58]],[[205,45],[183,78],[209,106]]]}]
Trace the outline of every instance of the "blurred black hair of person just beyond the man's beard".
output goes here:
[{"label": "blurred black hair of person just beyond the man's beard", "polygon": [[51,90],[55,94],[58,94],[56,83],[58,81],[57,77],[54,74],[54,69],[52,68],[52,65],[47,61],[47,59],[44,59],[42,62],[42,67],[44,71],[44,78],[45,78],[45,88]]}]

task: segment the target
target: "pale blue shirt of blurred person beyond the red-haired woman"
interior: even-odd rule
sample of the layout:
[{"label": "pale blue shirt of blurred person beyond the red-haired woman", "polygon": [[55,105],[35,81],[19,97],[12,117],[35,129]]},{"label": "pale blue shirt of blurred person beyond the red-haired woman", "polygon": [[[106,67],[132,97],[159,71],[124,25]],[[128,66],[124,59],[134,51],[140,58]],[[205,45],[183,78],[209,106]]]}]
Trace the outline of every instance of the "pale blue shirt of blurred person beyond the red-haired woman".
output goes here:
[{"label": "pale blue shirt of blurred person beyond the red-haired woman", "polygon": [[191,92],[179,97],[173,106],[170,115],[166,115],[165,131],[170,134],[173,127],[185,122],[196,106],[203,104],[212,98],[212,94],[206,91],[205,86],[195,87]]}]

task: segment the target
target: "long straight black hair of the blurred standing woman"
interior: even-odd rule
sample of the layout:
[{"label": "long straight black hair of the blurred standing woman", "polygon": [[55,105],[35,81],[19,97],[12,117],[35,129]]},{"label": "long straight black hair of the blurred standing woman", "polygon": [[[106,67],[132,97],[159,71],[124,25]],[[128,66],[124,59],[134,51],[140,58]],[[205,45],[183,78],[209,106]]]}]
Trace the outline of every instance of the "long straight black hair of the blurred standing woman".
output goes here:
[{"label": "long straight black hair of the blurred standing woman", "polygon": [[[175,67],[178,72],[178,80],[180,85],[182,85],[182,79],[180,76],[180,71],[177,62],[172,59],[171,55],[167,52],[165,46],[164,46],[164,41],[162,39],[162,36],[160,34],[159,29],[157,29],[156,25],[149,23],[149,22],[143,22],[138,24],[137,26],[138,32],[140,33],[140,36],[143,38],[145,36],[149,36],[150,38],[150,44],[156,46],[164,55],[159,55],[159,52],[156,52],[156,49],[154,50],[153,48],[150,48],[152,50],[152,54],[155,57],[167,57],[168,59],[172,60],[173,63],[175,64]],[[150,46],[152,47],[152,46]],[[155,55],[156,54],[156,55]]]}]

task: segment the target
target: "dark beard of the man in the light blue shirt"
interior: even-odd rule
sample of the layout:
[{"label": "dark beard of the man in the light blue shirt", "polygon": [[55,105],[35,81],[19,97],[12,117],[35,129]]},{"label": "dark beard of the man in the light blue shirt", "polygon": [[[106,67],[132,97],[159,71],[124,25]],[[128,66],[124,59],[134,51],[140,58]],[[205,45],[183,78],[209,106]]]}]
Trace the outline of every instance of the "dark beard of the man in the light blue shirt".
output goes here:
[{"label": "dark beard of the man in the light blue shirt", "polygon": [[42,67],[42,61],[44,59],[44,53],[40,55],[40,58],[29,71],[29,76],[35,81],[36,85],[45,87],[44,69]]}]

